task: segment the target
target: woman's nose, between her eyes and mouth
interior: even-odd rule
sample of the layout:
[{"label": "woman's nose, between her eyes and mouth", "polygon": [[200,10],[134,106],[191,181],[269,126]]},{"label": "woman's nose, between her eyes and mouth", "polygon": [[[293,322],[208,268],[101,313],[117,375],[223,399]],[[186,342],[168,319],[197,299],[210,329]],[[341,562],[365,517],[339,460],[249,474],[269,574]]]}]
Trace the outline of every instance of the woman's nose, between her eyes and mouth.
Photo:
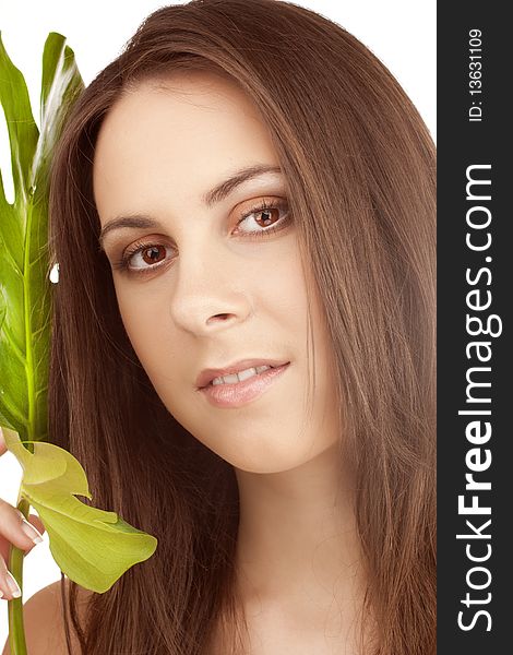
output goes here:
[{"label": "woman's nose, between her eyes and mouth", "polygon": [[243,322],[251,314],[249,281],[234,252],[214,247],[208,252],[182,252],[170,298],[175,323],[194,334],[208,334]]}]

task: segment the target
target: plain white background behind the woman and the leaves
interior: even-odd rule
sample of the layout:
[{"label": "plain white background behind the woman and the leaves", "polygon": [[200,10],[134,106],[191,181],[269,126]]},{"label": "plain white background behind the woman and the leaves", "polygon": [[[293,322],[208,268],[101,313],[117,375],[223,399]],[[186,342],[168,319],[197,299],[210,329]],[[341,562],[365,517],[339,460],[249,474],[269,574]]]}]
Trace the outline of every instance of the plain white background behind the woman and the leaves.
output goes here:
[{"label": "plain white background behind the woman and the leaves", "polygon": [[[25,76],[36,121],[40,59],[49,32],[59,32],[67,37],[82,78],[88,84],[117,57],[142,20],[165,3],[154,0],[2,0],[2,40]],[[436,139],[436,0],[296,0],[295,3],[337,22],[370,48],[402,84]],[[9,144],[1,111],[0,167],[8,200],[12,201]],[[0,497],[14,504],[20,480],[21,468],[16,460],[5,453],[0,457]],[[25,559],[24,602],[60,579],[60,570],[49,551],[48,536],[46,533],[44,536],[44,544],[36,546]],[[0,599],[0,647],[7,633],[7,602]]]}]

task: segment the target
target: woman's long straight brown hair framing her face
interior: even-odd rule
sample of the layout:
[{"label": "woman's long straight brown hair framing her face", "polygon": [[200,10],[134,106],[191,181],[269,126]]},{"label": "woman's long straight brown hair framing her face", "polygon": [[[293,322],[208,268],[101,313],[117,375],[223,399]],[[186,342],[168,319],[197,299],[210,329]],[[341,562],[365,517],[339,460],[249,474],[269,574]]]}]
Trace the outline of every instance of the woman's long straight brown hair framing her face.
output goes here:
[{"label": "woman's long straight brown hair framing her face", "polygon": [[[92,191],[95,139],[112,104],[179,68],[222,71],[243,88],[287,179],[336,353],[345,456],[357,474],[363,615],[375,626],[362,652],[433,654],[434,147],[362,44],[276,0],[193,0],[150,15],[80,97],[55,158],[50,434],[83,464],[96,507],[158,538],[152,558],[92,595],[85,626],[71,584],[82,650],[206,655],[219,627],[243,628],[232,466],[175,420],[139,362],[98,248]],[[237,647],[234,640],[223,655]]]}]

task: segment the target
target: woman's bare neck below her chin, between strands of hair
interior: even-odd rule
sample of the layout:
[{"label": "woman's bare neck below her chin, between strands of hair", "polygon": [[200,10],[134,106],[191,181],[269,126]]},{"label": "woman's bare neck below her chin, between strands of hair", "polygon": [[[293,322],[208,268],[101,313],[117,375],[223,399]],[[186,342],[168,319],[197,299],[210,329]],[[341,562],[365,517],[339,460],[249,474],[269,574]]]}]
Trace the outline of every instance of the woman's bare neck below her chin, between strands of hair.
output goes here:
[{"label": "woman's bare neck below her chin, between strands of hair", "polygon": [[341,472],[337,445],[290,471],[236,475],[236,564],[247,614],[267,608],[302,631],[325,628],[326,620],[341,624],[341,616],[354,624],[363,568],[354,485]]}]

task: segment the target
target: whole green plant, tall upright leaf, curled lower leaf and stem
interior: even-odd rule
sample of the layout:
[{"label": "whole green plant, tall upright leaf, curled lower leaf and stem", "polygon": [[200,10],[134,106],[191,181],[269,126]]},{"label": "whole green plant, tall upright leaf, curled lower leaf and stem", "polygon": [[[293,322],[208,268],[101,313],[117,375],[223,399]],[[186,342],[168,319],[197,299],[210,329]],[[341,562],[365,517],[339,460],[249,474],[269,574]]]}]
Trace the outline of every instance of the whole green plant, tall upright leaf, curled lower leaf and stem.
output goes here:
[{"label": "whole green plant, tall upright leaf, curled lower leaf and stem", "polygon": [[[43,56],[39,133],[25,80],[0,38],[0,102],[15,193],[8,203],[0,178],[0,426],[24,471],[19,507],[25,513],[28,505],[37,510],[61,570],[103,593],[131,565],[151,557],[157,540],[115,512],[80,501],[75,495],[92,499],[84,469],[65,450],[48,443],[49,167],[67,112],[82,88],[72,50],[63,36],[51,33]],[[20,549],[11,549],[10,565],[19,580],[22,563]],[[15,653],[25,653],[21,607],[12,615]]]}]

